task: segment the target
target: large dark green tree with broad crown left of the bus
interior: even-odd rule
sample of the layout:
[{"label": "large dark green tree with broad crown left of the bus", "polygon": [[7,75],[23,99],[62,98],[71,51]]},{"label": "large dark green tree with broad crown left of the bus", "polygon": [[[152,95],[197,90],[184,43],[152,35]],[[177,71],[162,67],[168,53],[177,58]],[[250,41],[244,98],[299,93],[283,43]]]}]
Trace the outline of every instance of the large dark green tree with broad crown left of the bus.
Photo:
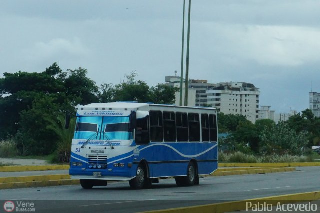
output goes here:
[{"label": "large dark green tree with broad crown left of the bus", "polygon": [[22,154],[49,154],[57,135],[46,128],[46,118],[74,111],[79,104],[97,102],[98,87],[87,70],[63,72],[53,63],[40,73],[4,73],[0,78],[0,138],[15,135]]}]

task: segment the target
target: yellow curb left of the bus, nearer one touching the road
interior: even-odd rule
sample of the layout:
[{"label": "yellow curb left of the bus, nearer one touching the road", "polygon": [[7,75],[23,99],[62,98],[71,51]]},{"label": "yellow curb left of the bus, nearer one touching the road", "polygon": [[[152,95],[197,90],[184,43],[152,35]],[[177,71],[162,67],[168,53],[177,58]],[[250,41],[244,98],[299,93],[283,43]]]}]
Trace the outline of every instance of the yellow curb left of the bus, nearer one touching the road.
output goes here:
[{"label": "yellow curb left of the bus, nearer one touching the road", "polygon": [[34,181],[34,182],[9,182],[9,183],[0,183],[0,189],[47,187],[47,186],[77,185],[77,184],[80,184],[80,180],[78,179],[60,179],[60,180]]}]

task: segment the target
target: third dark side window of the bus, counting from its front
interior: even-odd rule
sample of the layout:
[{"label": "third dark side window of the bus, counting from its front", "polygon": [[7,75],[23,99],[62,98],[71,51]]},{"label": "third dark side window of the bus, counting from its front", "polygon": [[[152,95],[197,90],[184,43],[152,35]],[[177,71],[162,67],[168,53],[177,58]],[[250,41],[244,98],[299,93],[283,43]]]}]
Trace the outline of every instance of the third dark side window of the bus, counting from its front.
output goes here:
[{"label": "third dark side window of the bus, counting from its front", "polygon": [[165,142],[175,142],[175,114],[171,111],[163,112],[163,133]]}]

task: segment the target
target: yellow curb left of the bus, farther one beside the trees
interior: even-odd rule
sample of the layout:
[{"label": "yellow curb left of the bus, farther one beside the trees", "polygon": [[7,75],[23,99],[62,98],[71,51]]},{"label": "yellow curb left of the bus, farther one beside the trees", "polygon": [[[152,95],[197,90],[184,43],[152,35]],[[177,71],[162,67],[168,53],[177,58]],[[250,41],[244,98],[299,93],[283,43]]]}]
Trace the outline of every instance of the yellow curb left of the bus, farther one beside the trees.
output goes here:
[{"label": "yellow curb left of the bus, farther one beside the trees", "polygon": [[0,166],[0,172],[66,170],[69,165]]}]

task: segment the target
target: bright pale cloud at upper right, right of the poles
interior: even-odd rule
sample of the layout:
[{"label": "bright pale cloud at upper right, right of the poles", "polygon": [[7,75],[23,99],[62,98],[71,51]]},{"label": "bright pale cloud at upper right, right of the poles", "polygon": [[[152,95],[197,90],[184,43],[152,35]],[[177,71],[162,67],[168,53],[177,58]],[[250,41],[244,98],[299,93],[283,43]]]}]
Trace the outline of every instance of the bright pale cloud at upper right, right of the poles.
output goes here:
[{"label": "bright pale cloud at upper right, right of the poles", "polygon": [[320,54],[318,28],[212,22],[199,25],[211,35],[207,38],[214,46],[211,52],[228,63],[253,60],[266,66],[295,67],[316,62]]}]

